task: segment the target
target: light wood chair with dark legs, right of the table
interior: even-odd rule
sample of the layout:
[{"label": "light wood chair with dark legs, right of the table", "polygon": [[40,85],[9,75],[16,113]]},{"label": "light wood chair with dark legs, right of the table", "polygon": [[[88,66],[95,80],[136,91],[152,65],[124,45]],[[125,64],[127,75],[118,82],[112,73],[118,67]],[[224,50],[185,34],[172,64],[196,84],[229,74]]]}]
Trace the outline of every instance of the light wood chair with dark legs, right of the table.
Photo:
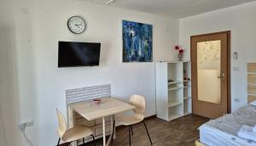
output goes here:
[{"label": "light wood chair with dark legs, right of the table", "polygon": [[[115,121],[123,126],[129,127],[129,144],[131,146],[131,134],[133,135],[132,125],[142,122],[144,120],[144,111],[146,107],[145,98],[141,95],[132,95],[130,98],[130,104],[135,106],[136,108],[133,110],[133,115],[115,115]],[[114,121],[114,124],[115,124]],[[146,128],[149,141],[152,145],[151,138],[148,133],[148,128],[143,121],[143,124]]]}]

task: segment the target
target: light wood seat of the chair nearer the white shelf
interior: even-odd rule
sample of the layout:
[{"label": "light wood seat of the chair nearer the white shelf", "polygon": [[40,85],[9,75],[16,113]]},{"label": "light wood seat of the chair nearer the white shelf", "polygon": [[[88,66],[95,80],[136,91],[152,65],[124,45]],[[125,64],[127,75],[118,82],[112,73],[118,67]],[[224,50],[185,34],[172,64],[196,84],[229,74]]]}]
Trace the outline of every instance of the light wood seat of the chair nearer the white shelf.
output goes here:
[{"label": "light wood seat of the chair nearer the white shelf", "polygon": [[133,124],[137,124],[141,121],[143,121],[143,116],[137,116],[137,115],[115,115],[114,119],[117,123],[124,125],[124,126],[130,126]]}]

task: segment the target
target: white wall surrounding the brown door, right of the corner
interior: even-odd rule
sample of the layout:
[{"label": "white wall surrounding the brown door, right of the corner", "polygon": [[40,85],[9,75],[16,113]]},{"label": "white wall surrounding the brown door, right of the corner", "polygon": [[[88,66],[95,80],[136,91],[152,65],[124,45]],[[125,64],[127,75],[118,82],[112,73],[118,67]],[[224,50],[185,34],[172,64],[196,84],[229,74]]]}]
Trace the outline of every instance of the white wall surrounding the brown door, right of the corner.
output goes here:
[{"label": "white wall surrounding the brown door, right of the corner", "polygon": [[[247,62],[256,62],[256,2],[224,8],[180,20],[180,42],[190,48],[190,36],[231,31],[231,53],[238,53],[238,60],[231,61],[232,111],[247,104]],[[189,59],[189,53],[185,54]],[[238,101],[237,101],[237,100]]]}]

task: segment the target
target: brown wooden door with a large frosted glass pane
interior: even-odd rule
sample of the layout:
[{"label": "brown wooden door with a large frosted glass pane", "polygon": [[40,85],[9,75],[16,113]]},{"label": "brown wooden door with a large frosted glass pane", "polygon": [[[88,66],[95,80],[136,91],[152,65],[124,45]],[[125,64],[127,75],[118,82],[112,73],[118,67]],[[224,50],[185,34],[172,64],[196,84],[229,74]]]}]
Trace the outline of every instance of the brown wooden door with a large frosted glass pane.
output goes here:
[{"label": "brown wooden door with a large frosted glass pane", "polygon": [[190,41],[193,113],[215,119],[230,112],[230,31]]}]

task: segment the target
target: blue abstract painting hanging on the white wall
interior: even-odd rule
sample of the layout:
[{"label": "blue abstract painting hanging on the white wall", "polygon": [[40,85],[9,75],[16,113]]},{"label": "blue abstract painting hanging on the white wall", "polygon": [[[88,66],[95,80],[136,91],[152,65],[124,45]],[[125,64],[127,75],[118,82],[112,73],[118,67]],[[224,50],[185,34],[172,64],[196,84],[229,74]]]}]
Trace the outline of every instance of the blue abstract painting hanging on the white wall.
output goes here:
[{"label": "blue abstract painting hanging on the white wall", "polygon": [[152,25],[123,20],[123,62],[152,62]]}]

